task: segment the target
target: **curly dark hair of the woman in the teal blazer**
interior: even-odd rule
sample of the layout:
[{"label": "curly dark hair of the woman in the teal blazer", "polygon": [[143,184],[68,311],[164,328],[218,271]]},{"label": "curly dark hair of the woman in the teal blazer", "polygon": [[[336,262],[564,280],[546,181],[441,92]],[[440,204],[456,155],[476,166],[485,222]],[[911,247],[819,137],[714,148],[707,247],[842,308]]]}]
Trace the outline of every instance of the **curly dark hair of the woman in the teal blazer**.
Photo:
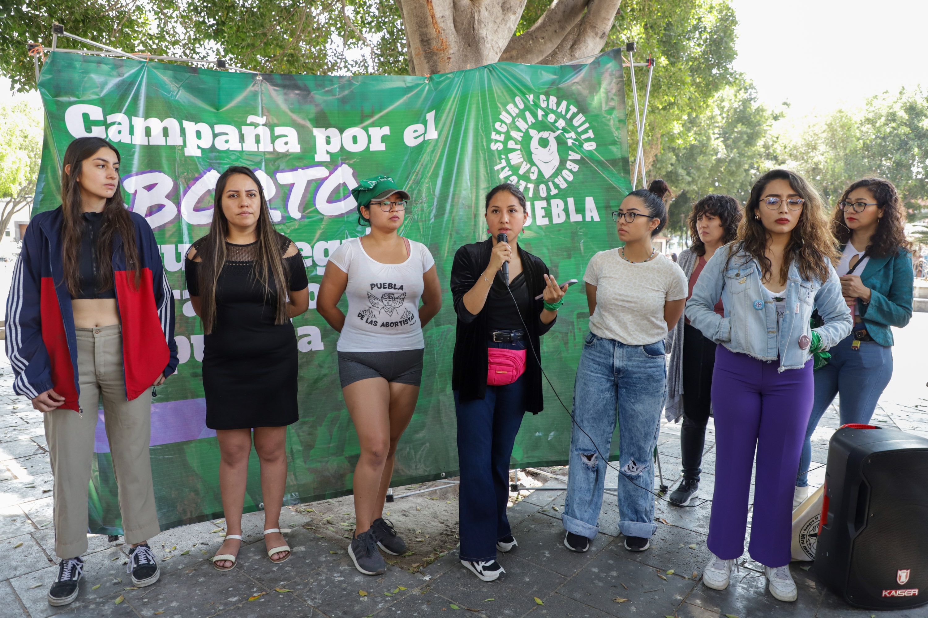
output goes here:
[{"label": "curly dark hair of the woman in the teal blazer", "polygon": [[[870,191],[879,205],[878,208],[883,212],[883,217],[877,221],[876,232],[870,237],[870,246],[867,247],[868,255],[874,258],[885,258],[896,255],[900,249],[911,251],[912,247],[906,240],[906,208],[903,208],[896,186],[883,178],[863,178],[844,189],[838,203],[844,202],[848,195],[861,187]],[[831,232],[842,245],[846,246],[851,240],[852,232],[844,225],[844,211],[841,208],[834,208]]]}]

